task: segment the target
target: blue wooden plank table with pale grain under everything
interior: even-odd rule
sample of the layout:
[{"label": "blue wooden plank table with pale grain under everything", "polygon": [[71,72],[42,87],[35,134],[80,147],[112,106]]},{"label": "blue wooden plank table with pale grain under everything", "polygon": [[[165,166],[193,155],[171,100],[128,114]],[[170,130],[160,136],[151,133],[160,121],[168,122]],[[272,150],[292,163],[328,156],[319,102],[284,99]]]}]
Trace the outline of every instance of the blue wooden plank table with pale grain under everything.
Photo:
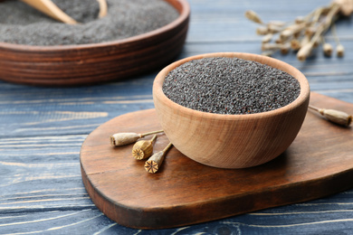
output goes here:
[{"label": "blue wooden plank table with pale grain under everything", "polygon": [[[177,59],[206,52],[261,53],[261,37],[244,18],[246,10],[264,21],[291,21],[329,2],[189,0],[189,33]],[[294,53],[274,57],[302,71],[311,90],[353,103],[351,19],[340,20],[337,33],[344,58],[326,58],[320,50],[305,62]],[[330,34],[326,40],[334,42]],[[66,89],[0,81],[0,234],[353,234],[353,190],[176,229],[133,230],[110,221],[84,189],[81,144],[111,118],[154,108],[156,74]]]}]

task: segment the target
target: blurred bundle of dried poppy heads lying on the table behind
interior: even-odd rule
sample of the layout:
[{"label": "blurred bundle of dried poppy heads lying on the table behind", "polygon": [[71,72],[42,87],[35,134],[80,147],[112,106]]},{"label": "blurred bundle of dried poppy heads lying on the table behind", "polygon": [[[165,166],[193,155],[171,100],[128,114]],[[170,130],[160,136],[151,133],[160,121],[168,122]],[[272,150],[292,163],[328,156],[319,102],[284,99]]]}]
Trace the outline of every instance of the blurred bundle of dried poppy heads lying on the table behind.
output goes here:
[{"label": "blurred bundle of dried poppy heads lying on the table behind", "polygon": [[[254,23],[261,24],[256,29],[256,33],[263,35],[262,54],[288,53],[287,45],[291,44],[291,50],[298,51],[298,60],[305,61],[313,48],[320,45],[323,35],[331,25],[334,25],[333,23],[339,18],[339,15],[348,15],[352,12],[353,0],[335,0],[330,5],[319,7],[306,16],[297,17],[291,24],[275,24],[273,22],[264,24],[260,16],[253,11],[247,11],[245,16]],[[328,45],[323,45],[323,47],[327,56],[332,54],[332,49],[329,49]],[[340,43],[338,43],[336,50],[339,57],[343,56],[344,48]]]}]

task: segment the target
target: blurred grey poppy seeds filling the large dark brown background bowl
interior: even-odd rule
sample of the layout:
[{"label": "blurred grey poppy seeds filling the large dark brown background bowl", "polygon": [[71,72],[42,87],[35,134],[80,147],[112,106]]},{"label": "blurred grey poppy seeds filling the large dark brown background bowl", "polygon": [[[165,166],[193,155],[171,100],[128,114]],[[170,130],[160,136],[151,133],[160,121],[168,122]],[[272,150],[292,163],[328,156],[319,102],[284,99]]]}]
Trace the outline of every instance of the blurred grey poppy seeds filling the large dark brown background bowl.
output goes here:
[{"label": "blurred grey poppy seeds filling the large dark brown background bowl", "polygon": [[176,9],[164,0],[107,0],[99,19],[97,0],[52,0],[81,24],[62,24],[21,1],[0,1],[0,42],[70,45],[110,42],[148,33],[173,22]]}]

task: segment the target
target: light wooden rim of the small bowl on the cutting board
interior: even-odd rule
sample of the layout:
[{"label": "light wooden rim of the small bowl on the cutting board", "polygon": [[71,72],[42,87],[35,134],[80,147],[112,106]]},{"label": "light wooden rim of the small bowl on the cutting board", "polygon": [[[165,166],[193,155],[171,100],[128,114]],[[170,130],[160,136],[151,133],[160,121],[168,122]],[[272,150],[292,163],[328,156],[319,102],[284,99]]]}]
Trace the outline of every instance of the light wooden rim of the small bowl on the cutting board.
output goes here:
[{"label": "light wooden rim of the small bowl on the cutting board", "polygon": [[[267,64],[272,68],[276,68],[281,71],[284,71],[282,70],[282,68],[287,68],[288,70],[286,70],[285,72],[289,73],[292,77],[294,77],[296,80],[299,81],[301,86],[301,93],[299,94],[297,99],[294,99],[294,101],[292,101],[290,104],[286,106],[283,106],[281,108],[276,108],[266,112],[253,113],[253,114],[208,113],[208,112],[199,111],[192,108],[186,108],[184,106],[177,104],[173,100],[167,98],[167,96],[163,92],[162,86],[167,76],[167,73],[169,71],[174,70],[176,67],[182,65],[187,61],[199,60],[199,59],[210,58],[210,57],[236,57],[236,58],[241,58],[243,60],[248,60],[248,61],[258,61],[262,64]],[[268,63],[267,61],[269,61],[270,63]],[[276,66],[273,66],[273,65],[276,65]],[[167,105],[167,107],[179,109],[186,115],[190,115],[190,116],[198,116],[206,119],[249,120],[249,119],[269,118],[269,117],[279,116],[283,113],[290,112],[294,108],[300,107],[310,99],[310,85],[309,85],[309,81],[306,79],[304,74],[301,73],[301,71],[299,71],[298,69],[296,69],[295,67],[291,66],[289,63],[286,63],[284,61],[280,61],[264,55],[246,53],[246,52],[213,52],[213,53],[194,55],[179,61],[175,61],[169,64],[167,67],[165,67],[162,71],[159,71],[153,82],[153,99],[154,99],[154,102],[156,102],[156,99],[160,99],[160,101],[164,102]]]}]

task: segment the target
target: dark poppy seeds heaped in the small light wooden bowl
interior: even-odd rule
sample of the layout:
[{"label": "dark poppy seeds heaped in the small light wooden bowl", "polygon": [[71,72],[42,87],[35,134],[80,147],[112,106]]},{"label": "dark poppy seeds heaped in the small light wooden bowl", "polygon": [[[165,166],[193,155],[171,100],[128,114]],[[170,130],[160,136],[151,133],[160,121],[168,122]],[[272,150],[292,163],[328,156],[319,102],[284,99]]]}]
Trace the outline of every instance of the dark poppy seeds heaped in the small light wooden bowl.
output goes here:
[{"label": "dark poppy seeds heaped in the small light wooden bowl", "polygon": [[299,81],[255,61],[204,58],[169,71],[167,98],[186,108],[217,114],[253,114],[284,107],[298,98]]}]

